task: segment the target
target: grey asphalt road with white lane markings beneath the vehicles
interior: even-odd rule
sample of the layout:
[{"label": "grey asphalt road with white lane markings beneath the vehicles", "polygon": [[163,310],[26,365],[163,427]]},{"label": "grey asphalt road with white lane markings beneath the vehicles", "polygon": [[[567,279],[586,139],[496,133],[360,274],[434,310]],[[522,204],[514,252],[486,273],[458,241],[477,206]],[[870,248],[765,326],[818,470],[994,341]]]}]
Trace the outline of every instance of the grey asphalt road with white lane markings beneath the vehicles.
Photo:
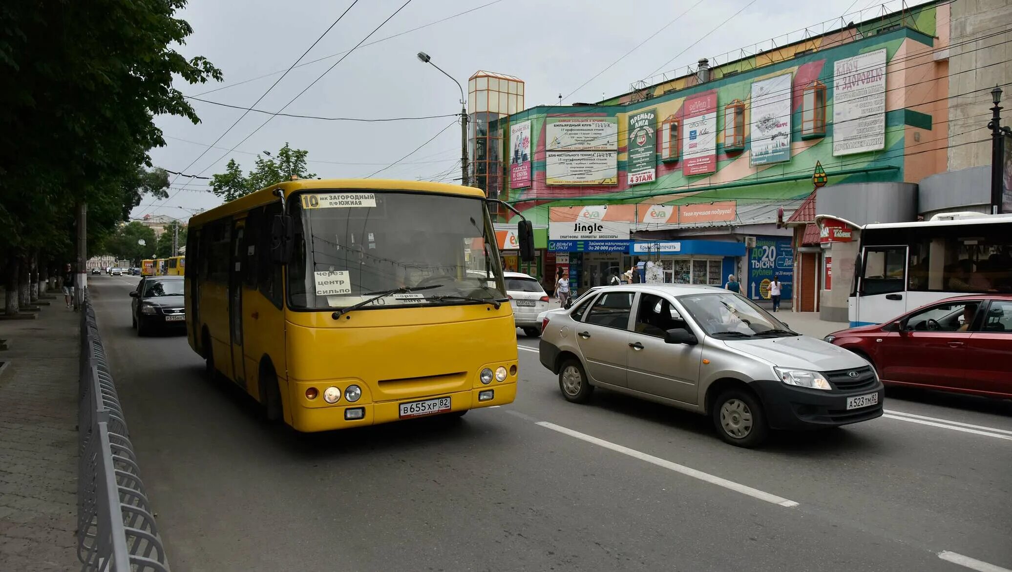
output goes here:
[{"label": "grey asphalt road with white lane markings beneath the vehicles", "polygon": [[137,277],[89,278],[177,571],[1012,570],[1012,401],[890,392],[886,417],[743,450],[691,413],[566,402],[518,330],[509,406],[298,435],[184,337],[138,338]]}]

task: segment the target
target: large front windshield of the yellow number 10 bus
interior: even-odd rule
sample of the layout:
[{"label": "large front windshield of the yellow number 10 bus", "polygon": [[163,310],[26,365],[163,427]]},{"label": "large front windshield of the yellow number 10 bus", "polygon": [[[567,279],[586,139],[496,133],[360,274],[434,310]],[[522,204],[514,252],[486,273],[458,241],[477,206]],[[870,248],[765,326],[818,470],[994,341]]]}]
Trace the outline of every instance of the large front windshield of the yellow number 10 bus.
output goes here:
[{"label": "large front windshield of the yellow number 10 bus", "polygon": [[403,191],[304,192],[291,199],[292,308],[505,298],[495,232],[479,198]]}]

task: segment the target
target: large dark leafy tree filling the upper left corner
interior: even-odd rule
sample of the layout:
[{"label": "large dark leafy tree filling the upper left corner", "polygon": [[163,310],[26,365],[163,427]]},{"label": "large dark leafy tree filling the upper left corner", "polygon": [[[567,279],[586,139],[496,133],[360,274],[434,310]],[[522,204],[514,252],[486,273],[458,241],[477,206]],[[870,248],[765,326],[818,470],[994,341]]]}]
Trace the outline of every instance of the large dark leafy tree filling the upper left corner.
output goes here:
[{"label": "large dark leafy tree filling the upper left corner", "polygon": [[[197,122],[173,79],[222,77],[204,58],[176,51],[193,31],[174,17],[185,4],[4,2],[0,252],[8,254],[8,293],[18,267],[39,257],[52,264],[72,251],[76,204],[88,203],[89,236],[100,237],[141,195],[164,192],[161,175],[141,171],[151,166],[148,150],[165,145],[152,119]],[[16,312],[16,299],[7,302],[7,312]]]}]

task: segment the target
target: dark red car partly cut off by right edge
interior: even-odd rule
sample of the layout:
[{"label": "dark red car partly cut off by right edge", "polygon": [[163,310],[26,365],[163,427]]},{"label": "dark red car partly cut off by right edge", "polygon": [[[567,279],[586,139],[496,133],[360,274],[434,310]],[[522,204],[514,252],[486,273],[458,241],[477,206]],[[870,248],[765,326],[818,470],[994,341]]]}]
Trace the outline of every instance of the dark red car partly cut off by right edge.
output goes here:
[{"label": "dark red car partly cut off by right edge", "polygon": [[887,385],[1012,398],[1012,295],[946,298],[826,342],[871,362]]}]

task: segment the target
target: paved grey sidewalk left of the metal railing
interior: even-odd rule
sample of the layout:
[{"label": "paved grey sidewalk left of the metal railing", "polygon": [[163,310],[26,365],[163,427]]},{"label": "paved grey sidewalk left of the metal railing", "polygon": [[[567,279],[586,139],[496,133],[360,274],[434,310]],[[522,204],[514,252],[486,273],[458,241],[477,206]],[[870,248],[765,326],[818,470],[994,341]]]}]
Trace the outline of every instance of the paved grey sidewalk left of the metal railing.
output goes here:
[{"label": "paved grey sidewalk left of the metal railing", "polygon": [[80,569],[77,410],[81,314],[51,300],[0,321],[0,570]]}]

